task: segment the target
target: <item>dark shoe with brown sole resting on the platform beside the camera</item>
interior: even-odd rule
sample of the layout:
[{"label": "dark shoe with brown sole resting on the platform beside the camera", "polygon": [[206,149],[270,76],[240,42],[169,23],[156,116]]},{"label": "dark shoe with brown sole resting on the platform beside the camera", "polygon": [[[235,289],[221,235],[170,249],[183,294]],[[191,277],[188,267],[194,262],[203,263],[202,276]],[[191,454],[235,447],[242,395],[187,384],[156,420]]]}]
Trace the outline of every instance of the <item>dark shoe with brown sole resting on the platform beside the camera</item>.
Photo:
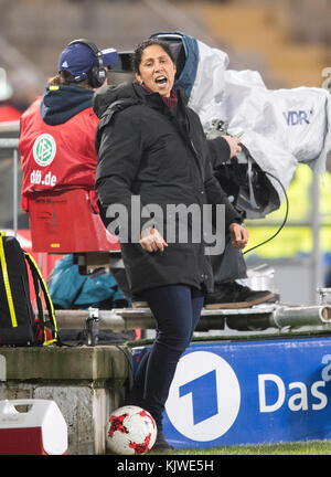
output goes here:
[{"label": "dark shoe with brown sole resting on the platform beside the camera", "polygon": [[249,308],[263,303],[275,303],[279,297],[269,290],[253,290],[236,282],[224,282],[216,286],[216,290],[207,294],[204,308]]}]

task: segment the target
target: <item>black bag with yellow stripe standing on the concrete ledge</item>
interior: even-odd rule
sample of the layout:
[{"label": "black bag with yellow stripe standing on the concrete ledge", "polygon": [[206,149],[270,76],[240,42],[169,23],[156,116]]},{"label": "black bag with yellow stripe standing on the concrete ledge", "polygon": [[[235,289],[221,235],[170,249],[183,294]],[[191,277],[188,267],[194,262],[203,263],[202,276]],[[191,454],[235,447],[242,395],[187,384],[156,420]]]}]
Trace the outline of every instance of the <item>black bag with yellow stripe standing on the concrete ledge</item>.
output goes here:
[{"label": "black bag with yellow stripe standing on the concrete ledge", "polygon": [[[33,278],[38,317],[31,304],[26,263]],[[34,258],[15,237],[0,232],[0,346],[47,346],[56,341],[54,307]]]}]

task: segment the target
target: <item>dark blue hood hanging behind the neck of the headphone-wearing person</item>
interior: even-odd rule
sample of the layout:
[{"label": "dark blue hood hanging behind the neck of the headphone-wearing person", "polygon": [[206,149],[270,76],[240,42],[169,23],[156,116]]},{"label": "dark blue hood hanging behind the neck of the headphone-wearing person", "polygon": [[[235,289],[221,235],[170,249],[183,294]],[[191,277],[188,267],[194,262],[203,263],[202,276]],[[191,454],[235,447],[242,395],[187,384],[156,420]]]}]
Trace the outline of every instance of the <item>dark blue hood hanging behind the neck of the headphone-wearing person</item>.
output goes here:
[{"label": "dark blue hood hanging behind the neck of the headphone-wearing person", "polygon": [[94,91],[77,85],[47,86],[40,113],[51,126],[63,124],[76,114],[92,106]]}]

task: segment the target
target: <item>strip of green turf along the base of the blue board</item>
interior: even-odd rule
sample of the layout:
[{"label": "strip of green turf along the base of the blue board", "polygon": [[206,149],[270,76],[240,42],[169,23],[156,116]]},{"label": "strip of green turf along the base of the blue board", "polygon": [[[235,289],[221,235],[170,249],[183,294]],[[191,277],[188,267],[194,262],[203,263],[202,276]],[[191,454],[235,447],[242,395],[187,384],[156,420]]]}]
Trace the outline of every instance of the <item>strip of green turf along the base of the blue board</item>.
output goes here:
[{"label": "strip of green turf along the base of the blue board", "polygon": [[213,448],[182,448],[175,451],[151,451],[160,455],[331,455],[331,441],[308,441],[300,443],[281,443],[264,445],[241,445]]}]

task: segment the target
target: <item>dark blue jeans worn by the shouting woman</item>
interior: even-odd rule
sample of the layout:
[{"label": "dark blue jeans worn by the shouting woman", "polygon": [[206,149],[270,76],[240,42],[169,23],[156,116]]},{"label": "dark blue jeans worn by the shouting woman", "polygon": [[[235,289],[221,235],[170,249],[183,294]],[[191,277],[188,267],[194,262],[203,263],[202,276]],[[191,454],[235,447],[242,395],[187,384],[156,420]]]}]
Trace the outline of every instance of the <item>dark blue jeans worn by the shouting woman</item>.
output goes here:
[{"label": "dark blue jeans worn by the shouting woman", "polygon": [[162,412],[177,364],[191,342],[203,307],[203,293],[186,285],[151,288],[141,296],[157,320],[157,336],[143,356],[126,402],[151,413],[162,428]]}]

